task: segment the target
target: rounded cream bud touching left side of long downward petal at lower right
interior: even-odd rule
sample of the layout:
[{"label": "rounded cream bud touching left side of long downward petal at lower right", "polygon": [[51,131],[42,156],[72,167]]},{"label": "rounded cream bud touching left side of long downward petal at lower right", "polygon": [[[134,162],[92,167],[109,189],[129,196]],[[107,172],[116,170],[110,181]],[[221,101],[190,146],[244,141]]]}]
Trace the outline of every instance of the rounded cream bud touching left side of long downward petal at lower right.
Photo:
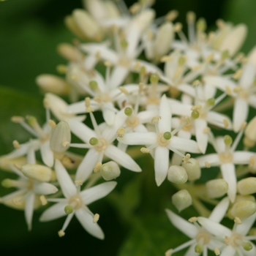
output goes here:
[{"label": "rounded cream bud touching left side of long downward petal at lower right", "polygon": [[222,178],[217,178],[211,181],[206,182],[206,191],[207,195],[210,198],[222,197],[227,193],[228,184]]}]

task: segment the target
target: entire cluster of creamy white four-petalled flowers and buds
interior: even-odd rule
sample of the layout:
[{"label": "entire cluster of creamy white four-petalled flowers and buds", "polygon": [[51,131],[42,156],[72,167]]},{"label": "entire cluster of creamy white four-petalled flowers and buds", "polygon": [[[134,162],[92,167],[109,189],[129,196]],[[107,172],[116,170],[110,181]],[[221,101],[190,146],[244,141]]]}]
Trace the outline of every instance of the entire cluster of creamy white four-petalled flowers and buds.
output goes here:
[{"label": "entire cluster of creamy white four-petalled flowers and buds", "polygon": [[[0,157],[1,169],[18,176],[2,181],[17,190],[1,203],[24,210],[29,230],[34,209],[56,203],[39,220],[67,216],[59,236],[75,215],[88,233],[103,239],[99,214],[88,205],[116,187],[112,180],[124,168],[145,171],[131,157],[132,148],[154,159],[155,189],[167,178],[177,191],[172,203],[178,212],[194,206],[200,216],[187,222],[165,210],[191,238],[166,255],[187,246],[186,255],[206,256],[208,249],[256,255],[256,236],[246,236],[256,218],[256,117],[249,119],[256,108],[256,49],[246,56],[238,52],[244,24],[217,20],[217,29],[207,31],[206,20],[188,12],[186,36],[176,10],[155,18],[152,4],[138,1],[127,9],[123,1],[84,0],[85,10],[65,19],[78,39],[58,47],[67,60],[58,66],[62,76],[36,79],[45,93],[45,124],[40,127],[34,116],[12,117],[33,137],[14,140],[14,151]],[[226,135],[219,137],[219,131]],[[217,177],[200,181],[201,168],[213,167],[219,167]],[[233,230],[220,224],[225,216],[234,220]]]}]

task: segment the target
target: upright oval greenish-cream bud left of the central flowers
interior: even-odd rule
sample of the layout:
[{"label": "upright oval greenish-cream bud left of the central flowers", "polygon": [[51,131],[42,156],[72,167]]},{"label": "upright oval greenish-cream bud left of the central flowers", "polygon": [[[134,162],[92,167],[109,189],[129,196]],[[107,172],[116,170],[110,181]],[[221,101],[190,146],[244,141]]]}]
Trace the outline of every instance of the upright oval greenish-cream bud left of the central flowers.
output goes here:
[{"label": "upright oval greenish-cream bud left of the central flowers", "polygon": [[64,153],[69,148],[71,134],[69,124],[66,121],[60,121],[52,130],[50,136],[50,148],[56,153]]}]

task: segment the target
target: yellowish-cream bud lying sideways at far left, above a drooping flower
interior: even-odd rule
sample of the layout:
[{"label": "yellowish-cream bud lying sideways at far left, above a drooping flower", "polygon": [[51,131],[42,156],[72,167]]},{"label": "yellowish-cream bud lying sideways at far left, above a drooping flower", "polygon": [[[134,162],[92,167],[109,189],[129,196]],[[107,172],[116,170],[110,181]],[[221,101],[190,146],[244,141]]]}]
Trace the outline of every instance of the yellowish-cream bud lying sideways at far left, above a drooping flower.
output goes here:
[{"label": "yellowish-cream bud lying sideways at far left, above a drooping flower", "polygon": [[21,167],[22,173],[35,181],[48,182],[52,176],[52,170],[45,165],[26,164]]}]

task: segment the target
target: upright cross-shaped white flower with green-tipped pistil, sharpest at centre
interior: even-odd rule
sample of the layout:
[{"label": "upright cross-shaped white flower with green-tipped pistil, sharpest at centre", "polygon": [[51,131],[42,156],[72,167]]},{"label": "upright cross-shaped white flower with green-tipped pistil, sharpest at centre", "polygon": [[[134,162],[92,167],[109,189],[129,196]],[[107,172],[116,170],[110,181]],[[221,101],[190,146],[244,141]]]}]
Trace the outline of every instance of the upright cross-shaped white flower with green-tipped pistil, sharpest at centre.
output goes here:
[{"label": "upright cross-shaped white flower with green-tipped pistil, sharpest at centre", "polygon": [[125,134],[124,137],[118,138],[118,140],[128,145],[147,145],[148,149],[154,149],[155,178],[157,186],[160,186],[167,176],[169,150],[184,157],[179,150],[200,153],[200,149],[195,140],[174,136],[179,128],[171,132],[170,105],[165,94],[162,96],[159,105],[159,116],[153,119],[156,119],[154,121],[156,132],[132,132]]}]

